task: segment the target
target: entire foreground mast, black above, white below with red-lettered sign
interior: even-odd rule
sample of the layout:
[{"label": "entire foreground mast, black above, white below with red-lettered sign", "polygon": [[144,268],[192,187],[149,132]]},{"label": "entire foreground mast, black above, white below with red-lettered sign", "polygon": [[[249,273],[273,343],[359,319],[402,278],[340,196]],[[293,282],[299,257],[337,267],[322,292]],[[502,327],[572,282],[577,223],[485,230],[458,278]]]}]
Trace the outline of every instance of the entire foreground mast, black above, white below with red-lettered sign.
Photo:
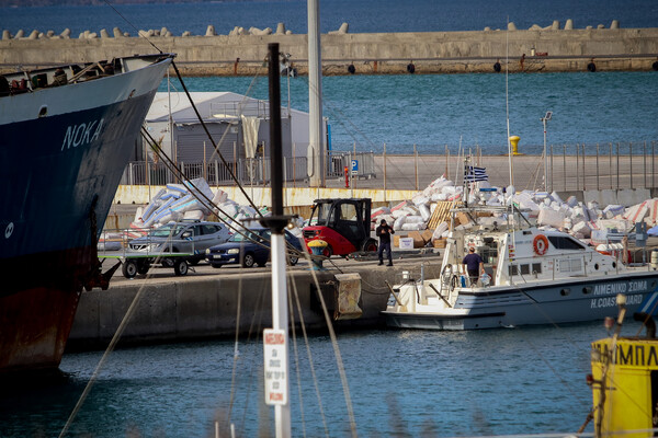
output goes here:
[{"label": "entire foreground mast, black above, white below with red-lettered sign", "polygon": [[[272,182],[272,216],[261,219],[272,238],[272,330],[265,330],[265,402],[274,405],[275,436],[290,437],[290,365],[288,365],[288,303],[285,281],[284,229],[288,218],[283,216],[283,152],[281,135],[281,83],[279,77],[279,43],[268,45],[270,67],[270,162]],[[270,355],[268,355],[270,353]],[[270,356],[270,357],[268,357]],[[274,370],[271,377],[270,370]],[[274,385],[270,387],[270,381]],[[273,391],[268,391],[273,389]],[[274,394],[274,396],[268,396]]]}]

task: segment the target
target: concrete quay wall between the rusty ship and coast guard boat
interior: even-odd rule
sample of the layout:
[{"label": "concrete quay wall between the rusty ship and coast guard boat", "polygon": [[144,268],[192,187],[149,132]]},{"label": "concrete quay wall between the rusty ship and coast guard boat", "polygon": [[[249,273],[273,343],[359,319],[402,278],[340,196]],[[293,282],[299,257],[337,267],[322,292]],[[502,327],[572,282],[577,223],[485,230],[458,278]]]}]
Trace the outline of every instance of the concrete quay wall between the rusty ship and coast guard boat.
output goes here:
[{"label": "concrete quay wall between the rusty ship and coast guard boat", "polygon": [[[382,325],[379,311],[386,308],[388,288],[400,280],[402,269],[419,275],[418,262],[397,264],[395,268],[356,266],[350,273],[362,277],[363,316],[358,320],[334,322],[334,325],[375,326]],[[428,276],[439,275],[439,263],[426,268]],[[220,274],[220,273],[219,273]],[[333,274],[321,272],[318,275],[322,296],[333,310]],[[309,272],[288,273],[299,297],[304,321],[309,330],[326,327]],[[82,292],[76,320],[69,337],[69,347],[102,347],[114,336],[137,292],[133,316],[122,336],[124,344],[144,344],[163,341],[184,341],[205,337],[235,336],[236,326],[240,334],[250,330],[261,331],[271,326],[271,278],[269,274],[225,274],[122,281],[109,290],[94,289]],[[293,289],[292,291],[294,291]],[[240,292],[241,291],[241,292]],[[238,320],[239,313],[239,324]],[[298,322],[298,315],[295,316]],[[291,319],[292,321],[292,319]],[[258,328],[254,328],[258,327]]]}]

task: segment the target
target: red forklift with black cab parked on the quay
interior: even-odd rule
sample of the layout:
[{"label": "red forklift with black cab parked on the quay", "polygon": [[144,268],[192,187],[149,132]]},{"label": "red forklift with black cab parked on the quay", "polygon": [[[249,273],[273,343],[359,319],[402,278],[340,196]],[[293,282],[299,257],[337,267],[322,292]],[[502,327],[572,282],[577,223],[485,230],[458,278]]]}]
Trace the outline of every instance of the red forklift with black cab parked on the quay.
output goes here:
[{"label": "red forklift with black cab parked on the quay", "polygon": [[314,200],[308,226],[304,227],[306,245],[324,240],[327,257],[376,252],[377,242],[371,238],[371,206],[370,198]]}]

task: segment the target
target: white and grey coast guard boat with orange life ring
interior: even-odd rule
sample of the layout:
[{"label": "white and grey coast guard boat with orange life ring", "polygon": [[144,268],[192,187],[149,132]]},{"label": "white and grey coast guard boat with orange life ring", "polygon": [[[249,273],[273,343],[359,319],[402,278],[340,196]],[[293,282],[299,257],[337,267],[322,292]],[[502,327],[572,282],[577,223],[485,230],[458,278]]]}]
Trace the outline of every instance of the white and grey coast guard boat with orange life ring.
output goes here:
[{"label": "white and grey coast guard boat with orange life ring", "polygon": [[[389,326],[474,330],[600,320],[658,303],[658,263],[629,266],[578,239],[532,226],[513,206],[452,210],[441,278],[393,288]],[[486,276],[469,285],[462,261],[475,247]],[[487,278],[489,277],[489,278]],[[484,281],[483,281],[484,279]]]}]

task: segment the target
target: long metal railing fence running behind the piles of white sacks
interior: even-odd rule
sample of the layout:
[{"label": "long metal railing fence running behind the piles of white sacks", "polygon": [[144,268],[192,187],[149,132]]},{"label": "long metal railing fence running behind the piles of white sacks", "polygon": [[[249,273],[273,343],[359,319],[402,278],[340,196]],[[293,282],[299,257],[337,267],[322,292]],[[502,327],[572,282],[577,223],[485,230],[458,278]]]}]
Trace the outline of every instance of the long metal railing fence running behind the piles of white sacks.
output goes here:
[{"label": "long metal railing fence running behind the piles of white sacks", "polygon": [[[392,148],[401,150],[405,148]],[[408,149],[408,148],[406,148]],[[475,155],[474,164],[487,168],[489,182],[495,186],[510,183],[509,160],[506,154],[492,153],[479,147],[432,148],[436,153],[381,154],[374,152],[330,151],[326,160],[328,186],[344,184],[345,168],[351,170],[353,185],[360,188],[422,189],[445,174],[461,183],[464,170],[463,150]],[[544,158],[540,153],[513,159],[513,185],[517,189],[591,191],[656,188],[658,184],[658,141],[614,142],[598,145],[552,145]],[[527,152],[530,148],[524,148]],[[287,183],[304,186],[308,182],[306,158],[286,158],[284,177]],[[268,158],[240,159],[229,163],[243,185],[269,185]],[[188,177],[205,177],[211,185],[234,185],[228,170],[220,161],[179,163]],[[164,185],[180,182],[162,163],[133,162],[126,168],[121,184]]]}]

